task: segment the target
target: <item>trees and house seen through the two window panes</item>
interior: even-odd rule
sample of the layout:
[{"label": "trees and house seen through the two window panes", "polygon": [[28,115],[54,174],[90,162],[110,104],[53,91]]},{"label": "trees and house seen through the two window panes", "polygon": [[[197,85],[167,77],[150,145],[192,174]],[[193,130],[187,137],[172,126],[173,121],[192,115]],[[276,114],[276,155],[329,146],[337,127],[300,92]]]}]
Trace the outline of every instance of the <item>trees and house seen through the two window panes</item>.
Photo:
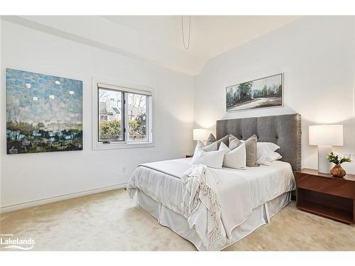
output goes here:
[{"label": "trees and house seen through the two window panes", "polygon": [[148,141],[147,103],[146,95],[99,88],[99,141],[124,140],[125,119],[128,141]]}]

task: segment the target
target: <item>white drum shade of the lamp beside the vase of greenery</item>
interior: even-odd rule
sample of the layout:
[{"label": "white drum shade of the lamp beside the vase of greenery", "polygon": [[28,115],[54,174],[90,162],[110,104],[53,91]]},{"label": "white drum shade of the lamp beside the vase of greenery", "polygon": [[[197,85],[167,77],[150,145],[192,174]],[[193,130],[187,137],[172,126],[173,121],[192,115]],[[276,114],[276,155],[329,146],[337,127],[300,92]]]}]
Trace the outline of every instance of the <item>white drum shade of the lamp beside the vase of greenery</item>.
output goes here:
[{"label": "white drum shade of the lamp beside the vase of greenery", "polygon": [[309,127],[310,145],[342,146],[343,125],[317,125]]}]

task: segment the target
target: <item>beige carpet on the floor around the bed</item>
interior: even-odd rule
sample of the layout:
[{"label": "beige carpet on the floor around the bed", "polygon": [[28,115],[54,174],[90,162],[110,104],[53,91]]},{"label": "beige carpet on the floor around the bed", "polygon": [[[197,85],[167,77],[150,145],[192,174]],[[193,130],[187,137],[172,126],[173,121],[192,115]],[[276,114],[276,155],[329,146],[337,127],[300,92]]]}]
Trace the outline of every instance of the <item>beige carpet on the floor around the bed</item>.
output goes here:
[{"label": "beige carpet on the floor around the bed", "polygon": [[[0,232],[34,238],[33,250],[196,250],[160,226],[124,189],[1,214]],[[355,226],[286,206],[226,250],[355,250]]]}]

